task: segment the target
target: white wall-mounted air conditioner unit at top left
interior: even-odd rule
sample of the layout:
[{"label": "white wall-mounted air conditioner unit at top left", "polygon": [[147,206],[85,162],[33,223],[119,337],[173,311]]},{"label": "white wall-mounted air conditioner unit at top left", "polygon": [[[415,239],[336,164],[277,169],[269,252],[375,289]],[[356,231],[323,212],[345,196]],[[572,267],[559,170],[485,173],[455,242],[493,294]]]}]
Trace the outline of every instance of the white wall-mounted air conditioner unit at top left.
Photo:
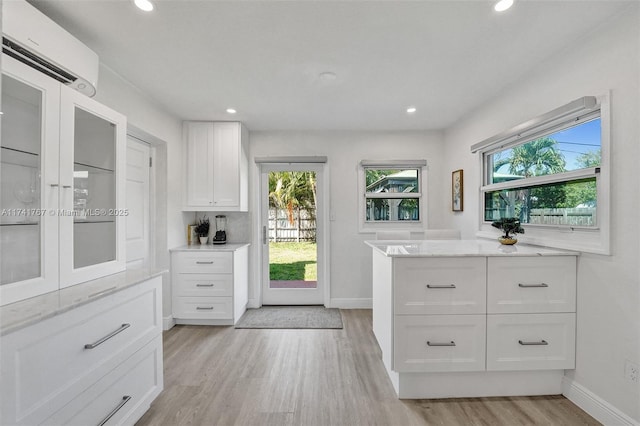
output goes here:
[{"label": "white wall-mounted air conditioner unit at top left", "polygon": [[98,55],[25,0],[2,3],[2,52],[87,95],[96,94]]}]

